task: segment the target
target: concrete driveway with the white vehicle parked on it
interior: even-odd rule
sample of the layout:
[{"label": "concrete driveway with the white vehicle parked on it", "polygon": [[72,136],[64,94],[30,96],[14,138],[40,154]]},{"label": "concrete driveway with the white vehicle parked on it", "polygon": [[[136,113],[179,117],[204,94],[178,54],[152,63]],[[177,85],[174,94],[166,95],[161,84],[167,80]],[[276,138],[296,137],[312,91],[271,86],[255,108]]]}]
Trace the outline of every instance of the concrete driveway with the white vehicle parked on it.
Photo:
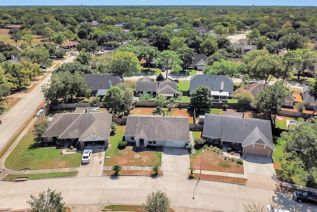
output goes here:
[{"label": "concrete driveway with the white vehicle parked on it", "polygon": [[77,177],[103,176],[105,151],[101,148],[92,148],[91,161],[81,163]]}]

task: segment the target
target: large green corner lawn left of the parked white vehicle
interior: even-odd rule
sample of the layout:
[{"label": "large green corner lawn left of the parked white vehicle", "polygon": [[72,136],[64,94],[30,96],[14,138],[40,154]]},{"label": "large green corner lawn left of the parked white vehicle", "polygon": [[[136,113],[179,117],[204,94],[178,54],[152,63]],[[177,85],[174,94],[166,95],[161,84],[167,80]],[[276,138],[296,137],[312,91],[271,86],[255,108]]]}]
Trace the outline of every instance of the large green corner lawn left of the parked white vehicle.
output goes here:
[{"label": "large green corner lawn left of the parked white vehicle", "polygon": [[32,132],[26,134],[5,160],[12,170],[79,167],[80,153],[60,154],[61,149],[40,147]]}]

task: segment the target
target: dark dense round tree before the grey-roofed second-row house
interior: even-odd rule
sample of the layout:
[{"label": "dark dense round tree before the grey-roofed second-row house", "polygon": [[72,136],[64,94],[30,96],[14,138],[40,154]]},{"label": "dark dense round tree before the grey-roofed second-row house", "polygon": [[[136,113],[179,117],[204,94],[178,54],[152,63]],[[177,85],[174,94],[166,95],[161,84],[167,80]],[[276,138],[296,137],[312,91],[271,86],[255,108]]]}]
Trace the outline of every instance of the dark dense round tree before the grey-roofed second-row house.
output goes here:
[{"label": "dark dense round tree before the grey-roofed second-row house", "polygon": [[191,106],[197,110],[208,110],[212,105],[212,99],[209,95],[209,87],[199,85],[199,87],[193,91],[192,96],[190,97]]}]

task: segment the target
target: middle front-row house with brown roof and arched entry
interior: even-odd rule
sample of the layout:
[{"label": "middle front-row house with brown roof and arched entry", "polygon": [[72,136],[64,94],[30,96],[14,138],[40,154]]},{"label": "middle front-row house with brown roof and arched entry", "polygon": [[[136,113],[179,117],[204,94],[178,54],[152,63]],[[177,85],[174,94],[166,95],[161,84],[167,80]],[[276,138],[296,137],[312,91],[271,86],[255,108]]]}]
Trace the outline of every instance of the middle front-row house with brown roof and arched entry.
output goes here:
[{"label": "middle front-row house with brown roof and arched entry", "polygon": [[138,147],[184,148],[190,142],[188,118],[131,115],[127,118],[124,139]]}]

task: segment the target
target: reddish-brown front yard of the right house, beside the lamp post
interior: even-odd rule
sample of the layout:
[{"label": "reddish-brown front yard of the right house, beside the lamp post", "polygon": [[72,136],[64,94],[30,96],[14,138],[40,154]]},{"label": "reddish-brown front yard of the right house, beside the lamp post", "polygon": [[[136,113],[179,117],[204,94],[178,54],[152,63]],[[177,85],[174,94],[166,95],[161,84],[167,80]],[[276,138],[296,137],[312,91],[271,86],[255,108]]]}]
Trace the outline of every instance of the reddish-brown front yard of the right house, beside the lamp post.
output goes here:
[{"label": "reddish-brown front yard of the right house, beside the lamp post", "polygon": [[[224,161],[224,155],[218,154],[220,158],[218,158],[213,152],[209,150],[205,150],[203,155],[203,164],[202,170],[208,171],[220,171],[220,172],[229,172],[229,173],[237,173],[243,174],[243,165],[240,165],[236,162]],[[190,163],[192,167],[195,169],[200,169],[201,167],[201,158],[202,153],[200,152],[196,156],[190,155]],[[223,159],[222,159],[223,158]]]}]

